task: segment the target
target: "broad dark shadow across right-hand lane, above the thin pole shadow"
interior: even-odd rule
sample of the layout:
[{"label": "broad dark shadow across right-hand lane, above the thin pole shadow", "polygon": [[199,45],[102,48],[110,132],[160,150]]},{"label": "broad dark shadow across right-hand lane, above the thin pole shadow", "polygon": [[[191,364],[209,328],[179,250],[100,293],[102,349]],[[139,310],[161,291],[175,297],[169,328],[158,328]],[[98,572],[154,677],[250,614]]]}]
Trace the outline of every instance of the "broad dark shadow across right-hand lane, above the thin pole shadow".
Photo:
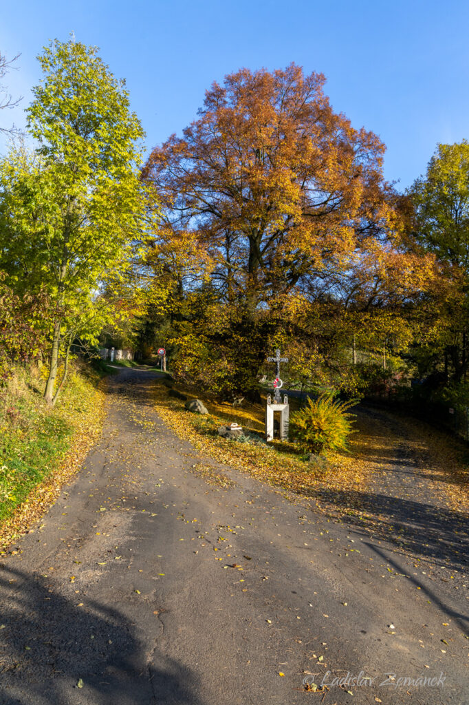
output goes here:
[{"label": "broad dark shadow across right-hand lane, above the thin pole shadow", "polygon": [[[359,525],[373,536],[397,541],[412,553],[435,563],[461,569],[469,565],[469,516],[417,501],[369,492],[313,489],[309,496],[349,510],[341,513],[344,523]],[[359,518],[361,510],[375,515],[367,525]]]}]

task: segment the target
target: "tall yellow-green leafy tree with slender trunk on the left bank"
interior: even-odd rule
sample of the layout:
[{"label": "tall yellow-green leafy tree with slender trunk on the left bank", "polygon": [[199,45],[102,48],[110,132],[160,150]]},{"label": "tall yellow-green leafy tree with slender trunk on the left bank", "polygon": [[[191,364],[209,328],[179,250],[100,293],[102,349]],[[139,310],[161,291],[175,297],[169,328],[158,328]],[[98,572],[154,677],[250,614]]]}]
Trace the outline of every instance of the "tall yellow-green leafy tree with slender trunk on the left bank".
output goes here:
[{"label": "tall yellow-green leafy tree with slender trunk on the left bank", "polygon": [[59,360],[76,336],[96,341],[115,317],[145,216],[139,180],[144,133],[125,83],[96,47],[55,40],[39,56],[27,130],[33,156],[0,174],[0,266],[18,289],[46,288],[54,312],[44,396],[54,403]]}]

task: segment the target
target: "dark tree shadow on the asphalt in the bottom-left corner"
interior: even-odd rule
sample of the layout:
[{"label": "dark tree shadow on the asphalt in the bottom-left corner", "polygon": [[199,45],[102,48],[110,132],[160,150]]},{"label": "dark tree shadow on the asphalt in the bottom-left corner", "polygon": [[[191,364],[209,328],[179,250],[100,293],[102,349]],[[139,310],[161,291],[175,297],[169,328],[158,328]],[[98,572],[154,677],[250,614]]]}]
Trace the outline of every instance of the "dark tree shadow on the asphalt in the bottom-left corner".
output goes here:
[{"label": "dark tree shadow on the asphalt in the bottom-left corner", "polygon": [[[46,577],[0,569],[2,705],[201,705],[185,666],[135,637],[119,611],[86,608]],[[77,688],[82,680],[82,689]]]}]

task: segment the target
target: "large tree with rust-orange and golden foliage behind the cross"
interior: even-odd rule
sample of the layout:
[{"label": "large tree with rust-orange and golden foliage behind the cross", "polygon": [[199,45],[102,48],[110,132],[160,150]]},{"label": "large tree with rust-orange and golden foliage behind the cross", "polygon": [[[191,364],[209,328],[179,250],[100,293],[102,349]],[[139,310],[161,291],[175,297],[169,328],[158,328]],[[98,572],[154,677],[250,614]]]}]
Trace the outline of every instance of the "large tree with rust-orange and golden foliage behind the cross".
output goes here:
[{"label": "large tree with rust-orange and golden foliage behind the cross", "polygon": [[349,281],[349,299],[373,305],[390,291],[401,298],[390,269],[404,279],[415,269],[383,180],[384,145],[333,111],[324,83],[294,64],[227,75],[206,92],[196,121],[144,167],[163,205],[154,262],[185,242],[196,244],[194,261],[210,259],[209,284],[179,280],[196,314],[178,342],[185,357],[202,345],[205,368],[224,351],[241,391],[254,384],[293,296],[341,297]]}]

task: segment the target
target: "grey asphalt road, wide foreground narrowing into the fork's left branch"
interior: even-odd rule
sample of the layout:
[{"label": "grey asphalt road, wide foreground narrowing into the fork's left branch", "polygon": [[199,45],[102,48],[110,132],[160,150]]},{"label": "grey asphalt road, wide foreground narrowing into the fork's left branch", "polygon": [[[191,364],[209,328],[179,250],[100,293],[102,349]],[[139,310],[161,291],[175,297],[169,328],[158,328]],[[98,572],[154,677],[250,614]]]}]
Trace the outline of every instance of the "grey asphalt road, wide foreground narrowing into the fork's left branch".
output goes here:
[{"label": "grey asphalt road, wide foreground narrowing into the fork's left branch", "polygon": [[102,441],[1,565],[0,703],[467,705],[465,583],[201,458],[156,377],[110,379]]}]

